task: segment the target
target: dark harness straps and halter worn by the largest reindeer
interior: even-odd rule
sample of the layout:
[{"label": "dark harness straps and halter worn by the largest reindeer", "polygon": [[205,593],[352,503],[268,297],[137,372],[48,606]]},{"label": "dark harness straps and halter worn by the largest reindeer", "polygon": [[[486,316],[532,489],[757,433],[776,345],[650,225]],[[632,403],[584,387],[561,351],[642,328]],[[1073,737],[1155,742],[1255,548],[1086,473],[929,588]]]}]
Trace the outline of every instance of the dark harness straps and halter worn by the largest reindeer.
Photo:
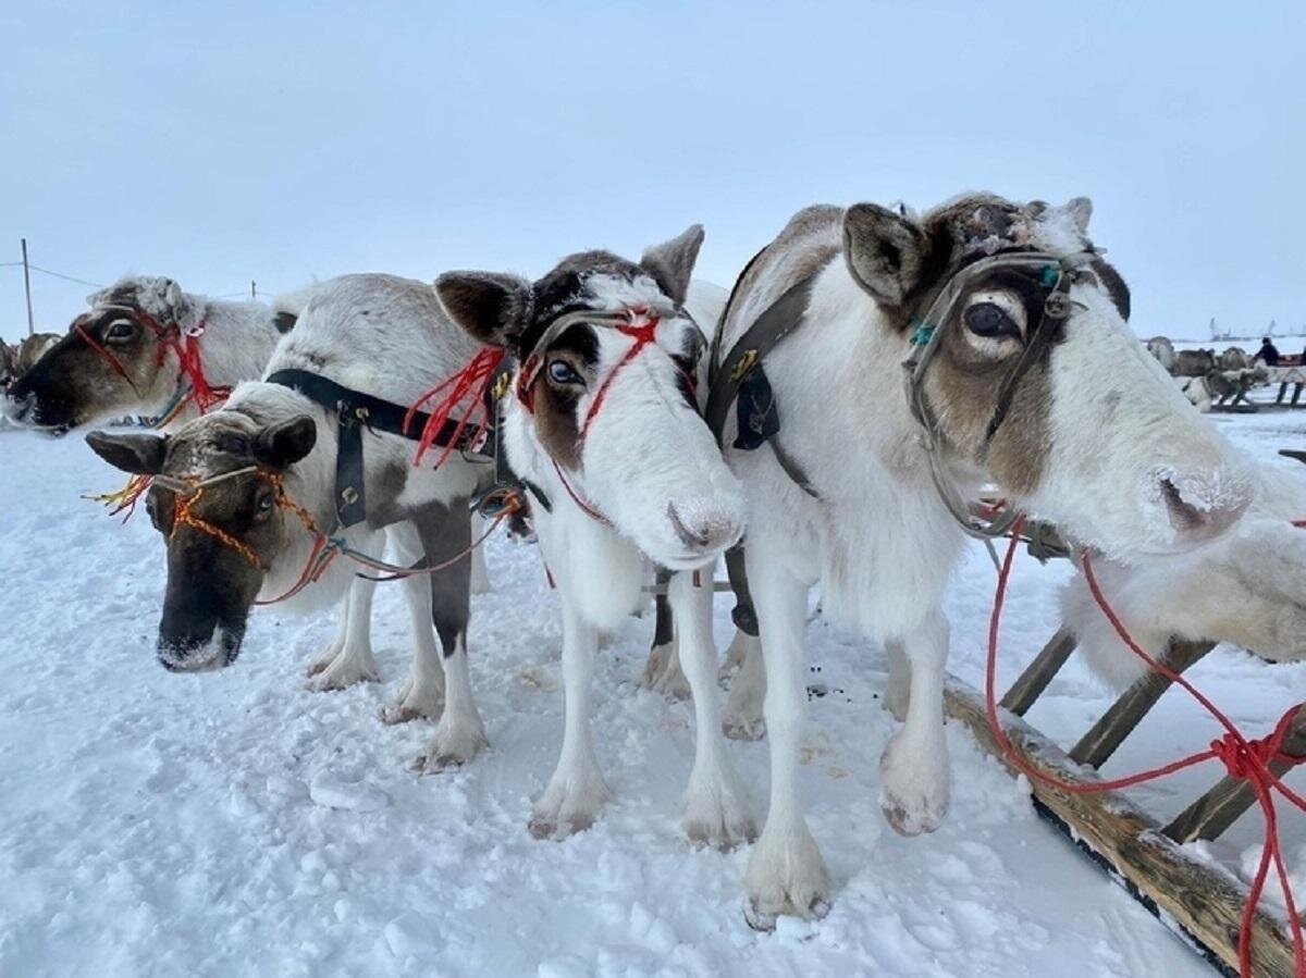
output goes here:
[{"label": "dark harness straps and halter worn by the largest reindeer", "polygon": [[[731,291],[726,308],[721,315],[722,329],[729,319],[730,308],[734,306],[739,282],[743,281],[748,269],[752,268],[760,256],[761,252],[748,262],[743,276],[735,283],[735,290]],[[943,454],[946,439],[942,424],[925,392],[926,375],[943,341],[944,326],[951,321],[952,312],[968,286],[996,268],[1033,272],[1038,276],[1040,285],[1047,290],[1038,321],[1027,333],[1020,356],[1007,371],[998,389],[996,406],[985,427],[983,440],[974,460],[982,465],[987,458],[989,447],[994,436],[1011,411],[1020,381],[1038,360],[1042,350],[1050,345],[1055,324],[1070,315],[1070,289],[1079,270],[1092,261],[1093,257],[1093,252],[1085,251],[1064,257],[1046,252],[1006,252],[980,259],[969,265],[955,268],[948,273],[943,289],[935,295],[926,313],[912,320],[912,353],[902,363],[906,375],[908,405],[912,409],[913,418],[921,426],[921,444],[926,449],[930,477],[935,490],[948,513],[970,537],[983,541],[1002,537],[1011,531],[1017,514],[1010,508],[987,508],[980,513],[973,512],[961,501],[961,495],[947,470],[947,461]],[[726,417],[729,415],[730,406],[738,402],[737,420],[739,431],[733,447],[743,450],[754,450],[769,443],[776,454],[776,461],[785,474],[803,492],[819,500],[820,495],[806,473],[784,452],[776,440],[776,435],[780,432],[780,414],[771,384],[763,372],[763,360],[765,356],[803,324],[815,278],[815,276],[807,277],[788,289],[757,317],[724,358],[720,356],[721,329],[717,330],[713,345],[708,407],[704,417],[708,427],[717,439],[717,444],[724,447]],[[757,615],[748,593],[742,543],[726,552],[726,572],[735,593],[735,607],[731,618],[741,631],[756,636]]]}]

